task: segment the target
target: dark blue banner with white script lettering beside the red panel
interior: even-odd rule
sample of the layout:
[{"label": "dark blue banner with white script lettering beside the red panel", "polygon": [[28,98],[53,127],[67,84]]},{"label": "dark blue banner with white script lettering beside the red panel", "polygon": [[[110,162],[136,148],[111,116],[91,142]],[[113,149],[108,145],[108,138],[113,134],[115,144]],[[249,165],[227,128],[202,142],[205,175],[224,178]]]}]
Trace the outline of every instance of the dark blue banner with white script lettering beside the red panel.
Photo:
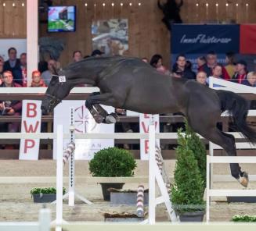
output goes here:
[{"label": "dark blue banner with white script lettering beside the red panel", "polygon": [[239,53],[239,25],[184,25],[173,24],[171,29],[171,53],[206,54]]}]

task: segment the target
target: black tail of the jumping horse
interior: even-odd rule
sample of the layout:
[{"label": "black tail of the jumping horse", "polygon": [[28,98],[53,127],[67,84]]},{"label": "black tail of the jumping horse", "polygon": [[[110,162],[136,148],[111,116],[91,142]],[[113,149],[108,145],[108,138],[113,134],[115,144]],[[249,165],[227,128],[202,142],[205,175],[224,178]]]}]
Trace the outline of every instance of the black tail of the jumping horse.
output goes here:
[{"label": "black tail of the jumping horse", "polygon": [[250,104],[248,101],[231,91],[216,91],[221,101],[222,112],[227,110],[233,124],[251,143],[256,143],[256,131],[248,126],[246,119]]}]

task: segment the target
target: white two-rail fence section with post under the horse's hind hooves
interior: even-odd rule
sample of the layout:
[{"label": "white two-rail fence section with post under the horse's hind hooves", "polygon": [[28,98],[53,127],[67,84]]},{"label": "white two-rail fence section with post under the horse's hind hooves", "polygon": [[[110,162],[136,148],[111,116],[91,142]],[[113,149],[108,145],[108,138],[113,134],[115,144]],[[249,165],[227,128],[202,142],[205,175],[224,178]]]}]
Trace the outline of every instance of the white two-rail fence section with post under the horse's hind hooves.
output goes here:
[{"label": "white two-rail fence section with post under the horse's hind hooves", "polygon": [[213,163],[256,163],[256,157],[249,156],[211,156],[207,155],[207,213],[206,220],[210,221],[210,202],[211,197],[222,196],[242,196],[242,197],[254,197],[256,196],[256,190],[214,190],[211,188],[211,164]]}]

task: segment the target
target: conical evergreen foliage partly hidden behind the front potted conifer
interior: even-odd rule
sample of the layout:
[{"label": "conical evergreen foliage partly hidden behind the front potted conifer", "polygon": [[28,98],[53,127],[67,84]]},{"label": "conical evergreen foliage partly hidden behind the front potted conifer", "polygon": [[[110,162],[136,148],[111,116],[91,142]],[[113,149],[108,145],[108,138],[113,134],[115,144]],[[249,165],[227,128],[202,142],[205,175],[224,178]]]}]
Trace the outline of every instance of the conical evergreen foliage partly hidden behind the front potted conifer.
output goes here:
[{"label": "conical evergreen foliage partly hidden behind the front potted conifer", "polygon": [[207,152],[204,143],[200,140],[200,137],[195,133],[185,120],[185,138],[187,140],[187,145],[189,150],[193,151],[193,155],[197,159],[197,165],[199,167],[202,179],[204,180],[204,187],[206,187],[206,156]]}]

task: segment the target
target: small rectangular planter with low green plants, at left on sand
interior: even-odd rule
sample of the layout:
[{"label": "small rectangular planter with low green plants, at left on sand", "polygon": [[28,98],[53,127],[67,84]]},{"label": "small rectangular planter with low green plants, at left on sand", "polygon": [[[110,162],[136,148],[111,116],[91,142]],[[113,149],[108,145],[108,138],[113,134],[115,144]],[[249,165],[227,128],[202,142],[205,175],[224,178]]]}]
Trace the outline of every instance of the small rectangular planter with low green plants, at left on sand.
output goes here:
[{"label": "small rectangular planter with low green plants, at left on sand", "polygon": [[[63,188],[63,194],[66,194],[66,189]],[[31,197],[35,203],[45,203],[56,201],[55,187],[34,187],[31,189]]]}]

